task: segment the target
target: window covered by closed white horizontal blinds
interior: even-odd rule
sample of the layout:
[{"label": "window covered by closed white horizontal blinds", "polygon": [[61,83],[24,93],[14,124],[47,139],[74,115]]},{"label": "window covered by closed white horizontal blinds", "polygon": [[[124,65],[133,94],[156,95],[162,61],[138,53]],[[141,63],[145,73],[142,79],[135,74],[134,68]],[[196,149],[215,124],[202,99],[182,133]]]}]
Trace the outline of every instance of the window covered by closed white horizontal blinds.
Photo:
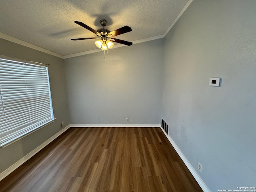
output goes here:
[{"label": "window covered by closed white horizontal blinds", "polygon": [[48,67],[0,58],[0,146],[53,120]]}]

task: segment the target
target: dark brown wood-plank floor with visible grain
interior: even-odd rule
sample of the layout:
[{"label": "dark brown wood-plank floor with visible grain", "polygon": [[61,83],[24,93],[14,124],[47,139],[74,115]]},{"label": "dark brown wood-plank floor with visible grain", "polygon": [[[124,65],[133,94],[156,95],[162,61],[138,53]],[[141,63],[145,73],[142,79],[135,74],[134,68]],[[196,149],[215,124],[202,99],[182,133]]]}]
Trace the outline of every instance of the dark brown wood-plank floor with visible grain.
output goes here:
[{"label": "dark brown wood-plank floor with visible grain", "polygon": [[1,192],[202,192],[160,128],[69,128]]}]

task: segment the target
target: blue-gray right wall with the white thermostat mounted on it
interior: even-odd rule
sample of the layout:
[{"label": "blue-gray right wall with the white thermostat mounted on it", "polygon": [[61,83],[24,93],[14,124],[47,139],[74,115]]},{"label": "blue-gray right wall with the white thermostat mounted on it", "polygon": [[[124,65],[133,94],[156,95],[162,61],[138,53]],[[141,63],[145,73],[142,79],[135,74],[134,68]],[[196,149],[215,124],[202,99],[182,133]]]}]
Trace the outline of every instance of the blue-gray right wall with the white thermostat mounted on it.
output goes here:
[{"label": "blue-gray right wall with the white thermostat mounted on it", "polygon": [[255,9],[194,0],[164,38],[162,118],[212,192],[256,185]]}]

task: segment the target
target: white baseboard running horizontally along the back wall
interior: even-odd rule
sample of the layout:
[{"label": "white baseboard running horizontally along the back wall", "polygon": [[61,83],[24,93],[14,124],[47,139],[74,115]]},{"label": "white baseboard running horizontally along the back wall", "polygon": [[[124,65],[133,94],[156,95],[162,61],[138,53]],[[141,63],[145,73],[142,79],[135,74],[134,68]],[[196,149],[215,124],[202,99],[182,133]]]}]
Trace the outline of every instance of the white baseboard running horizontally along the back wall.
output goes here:
[{"label": "white baseboard running horizontally along the back wall", "polygon": [[70,127],[160,127],[160,124],[70,124]]}]

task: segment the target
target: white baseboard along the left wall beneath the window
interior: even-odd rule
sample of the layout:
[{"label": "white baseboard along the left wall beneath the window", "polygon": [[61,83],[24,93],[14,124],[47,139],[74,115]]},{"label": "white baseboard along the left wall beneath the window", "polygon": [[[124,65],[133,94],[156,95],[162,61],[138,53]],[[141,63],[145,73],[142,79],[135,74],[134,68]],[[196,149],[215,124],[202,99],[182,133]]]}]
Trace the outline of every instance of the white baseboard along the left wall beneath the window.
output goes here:
[{"label": "white baseboard along the left wall beneath the window", "polygon": [[70,125],[66,126],[64,129],[60,130],[58,133],[56,133],[54,136],[46,140],[44,143],[42,143],[40,146],[32,150],[29,154],[18,160],[16,163],[14,163],[12,166],[10,166],[8,169],[6,169],[4,172],[0,173],[0,181],[8,176],[11,172],[16,170],[19,166],[21,166],[24,162],[32,158],[36,153],[38,153],[42,148],[44,148],[46,145],[48,145],[50,142],[52,142],[54,139],[56,139],[58,136],[60,136],[62,133],[64,133],[66,130],[70,128]]}]

